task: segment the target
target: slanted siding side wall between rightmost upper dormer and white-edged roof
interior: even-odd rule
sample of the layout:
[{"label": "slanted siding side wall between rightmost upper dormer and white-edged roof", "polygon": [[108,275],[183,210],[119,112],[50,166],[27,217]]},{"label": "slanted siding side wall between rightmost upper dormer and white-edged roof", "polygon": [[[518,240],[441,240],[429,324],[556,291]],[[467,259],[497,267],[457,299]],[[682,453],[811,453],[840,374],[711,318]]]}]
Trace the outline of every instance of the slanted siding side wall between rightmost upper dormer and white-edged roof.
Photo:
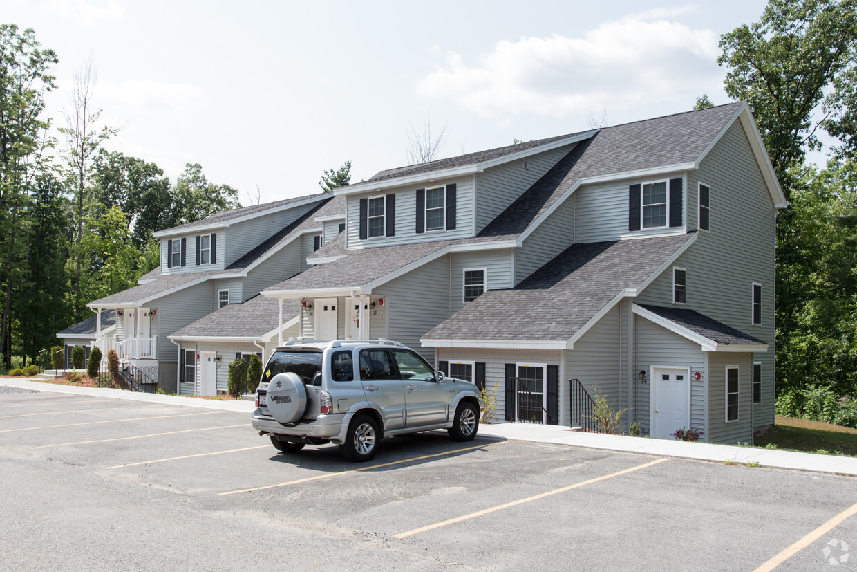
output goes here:
[{"label": "slanted siding side wall between rightmost upper dormer and white-edged roof", "polygon": [[542,268],[574,242],[574,196],[554,210],[515,250],[515,284]]}]

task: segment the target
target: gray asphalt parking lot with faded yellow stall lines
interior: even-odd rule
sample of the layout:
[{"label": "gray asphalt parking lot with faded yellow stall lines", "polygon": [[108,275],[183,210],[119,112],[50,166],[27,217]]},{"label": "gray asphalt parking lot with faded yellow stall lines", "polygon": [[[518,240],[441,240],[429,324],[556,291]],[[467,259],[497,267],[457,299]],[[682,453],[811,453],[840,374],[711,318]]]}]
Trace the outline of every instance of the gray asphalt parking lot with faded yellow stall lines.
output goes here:
[{"label": "gray asphalt parking lot with faded yellow stall lines", "polygon": [[857,547],[851,477],[493,425],[351,464],[187,398],[25,390],[0,393],[0,569],[828,569]]}]

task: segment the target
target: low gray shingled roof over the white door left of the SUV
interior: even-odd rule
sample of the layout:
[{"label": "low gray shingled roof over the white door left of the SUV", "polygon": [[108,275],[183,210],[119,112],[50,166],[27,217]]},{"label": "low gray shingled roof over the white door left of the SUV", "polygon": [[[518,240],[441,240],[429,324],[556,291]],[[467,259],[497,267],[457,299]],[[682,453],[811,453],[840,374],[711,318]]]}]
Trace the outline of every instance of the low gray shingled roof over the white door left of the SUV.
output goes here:
[{"label": "low gray shingled roof over the white door left of the SUV", "polygon": [[[297,316],[300,305],[297,300],[284,301],[284,322]],[[255,296],[243,304],[227,304],[170,335],[187,338],[258,338],[276,329],[278,325],[279,302],[277,298]]]}]

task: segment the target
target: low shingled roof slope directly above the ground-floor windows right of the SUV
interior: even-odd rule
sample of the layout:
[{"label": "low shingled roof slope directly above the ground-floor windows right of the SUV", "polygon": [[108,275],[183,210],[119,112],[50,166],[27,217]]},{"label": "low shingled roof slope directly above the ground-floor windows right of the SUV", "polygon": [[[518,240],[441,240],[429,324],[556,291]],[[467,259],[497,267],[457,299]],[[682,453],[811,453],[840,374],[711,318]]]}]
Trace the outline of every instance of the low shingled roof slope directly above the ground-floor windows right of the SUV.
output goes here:
[{"label": "low shingled roof slope directly above the ground-floor windows right of the SUV", "polygon": [[511,290],[485,292],[423,339],[566,341],[692,236],[574,244]]}]

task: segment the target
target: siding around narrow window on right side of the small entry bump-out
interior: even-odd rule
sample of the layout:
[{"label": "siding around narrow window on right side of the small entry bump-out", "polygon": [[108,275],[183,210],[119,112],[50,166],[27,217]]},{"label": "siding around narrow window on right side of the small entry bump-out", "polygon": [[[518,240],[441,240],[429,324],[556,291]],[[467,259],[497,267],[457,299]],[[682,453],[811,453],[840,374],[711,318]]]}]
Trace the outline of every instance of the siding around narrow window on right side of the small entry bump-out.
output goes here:
[{"label": "siding around narrow window on right side of the small entry bump-out", "polygon": [[[738,420],[726,421],[726,367],[738,366]],[[709,440],[752,443],[752,353],[709,352]],[[758,424],[758,423],[757,423]]]}]

